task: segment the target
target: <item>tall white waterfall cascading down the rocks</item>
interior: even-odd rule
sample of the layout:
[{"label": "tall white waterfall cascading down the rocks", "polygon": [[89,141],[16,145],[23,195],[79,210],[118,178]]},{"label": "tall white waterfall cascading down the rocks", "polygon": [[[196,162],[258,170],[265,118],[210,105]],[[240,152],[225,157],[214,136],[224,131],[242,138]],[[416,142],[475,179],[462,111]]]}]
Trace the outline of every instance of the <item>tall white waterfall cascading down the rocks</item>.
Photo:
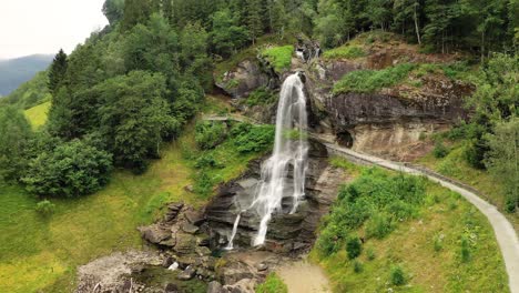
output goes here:
[{"label": "tall white waterfall cascading down the rocks", "polygon": [[[262,165],[262,181],[250,206],[250,209],[255,208],[261,218],[257,235],[253,240],[254,246],[265,242],[272,214],[282,210],[283,195],[292,192],[294,205],[291,213],[295,213],[301,198],[305,194],[308,123],[303,87],[298,73],[289,75],[282,87],[277,105],[274,152]],[[293,166],[293,186],[287,184],[289,165]],[[233,247],[240,218],[241,213],[234,223],[227,249]]]}]

